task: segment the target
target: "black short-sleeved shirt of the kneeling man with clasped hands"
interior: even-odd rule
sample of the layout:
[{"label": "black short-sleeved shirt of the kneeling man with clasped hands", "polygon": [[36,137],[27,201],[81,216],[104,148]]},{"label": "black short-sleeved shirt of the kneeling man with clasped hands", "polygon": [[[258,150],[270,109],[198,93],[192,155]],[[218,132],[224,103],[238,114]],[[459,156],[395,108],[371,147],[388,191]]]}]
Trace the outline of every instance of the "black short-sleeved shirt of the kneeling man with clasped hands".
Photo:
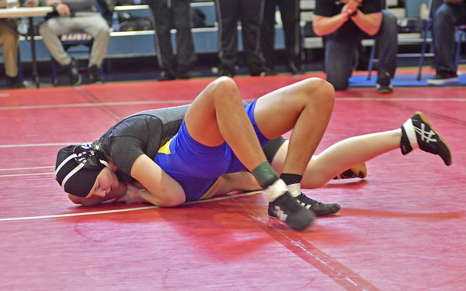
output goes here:
[{"label": "black short-sleeved shirt of the kneeling man with clasped hands", "polygon": [[[340,1],[334,0],[316,0],[314,14],[325,17],[332,17],[342,12],[345,4],[340,4]],[[382,11],[382,1],[380,0],[363,0],[361,6],[358,7],[364,14],[376,13]],[[351,20],[351,18],[338,30],[328,35],[330,39],[347,40],[361,32]]]}]

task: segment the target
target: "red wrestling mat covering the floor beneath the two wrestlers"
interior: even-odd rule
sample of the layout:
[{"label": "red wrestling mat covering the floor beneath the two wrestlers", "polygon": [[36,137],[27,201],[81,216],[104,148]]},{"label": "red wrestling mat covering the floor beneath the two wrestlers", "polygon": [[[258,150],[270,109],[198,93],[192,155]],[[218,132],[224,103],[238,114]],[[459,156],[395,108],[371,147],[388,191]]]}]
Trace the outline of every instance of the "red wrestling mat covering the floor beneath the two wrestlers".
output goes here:
[{"label": "red wrestling mat covering the floor beneath the two wrestlers", "polygon": [[[316,74],[315,76],[322,76]],[[235,78],[245,99],[305,76]],[[399,150],[368,178],[306,194],[342,211],[306,232],[267,215],[261,194],[174,209],[72,204],[51,174],[56,152],[137,111],[192,101],[211,79],[2,91],[2,290],[457,290],[466,284],[466,97],[461,87],[337,93],[317,152],[398,128],[416,110],[448,141],[453,165]],[[83,130],[86,129],[86,130]],[[139,209],[138,207],[145,207]],[[83,215],[88,214],[88,215]],[[76,215],[76,216],[74,216]]]}]

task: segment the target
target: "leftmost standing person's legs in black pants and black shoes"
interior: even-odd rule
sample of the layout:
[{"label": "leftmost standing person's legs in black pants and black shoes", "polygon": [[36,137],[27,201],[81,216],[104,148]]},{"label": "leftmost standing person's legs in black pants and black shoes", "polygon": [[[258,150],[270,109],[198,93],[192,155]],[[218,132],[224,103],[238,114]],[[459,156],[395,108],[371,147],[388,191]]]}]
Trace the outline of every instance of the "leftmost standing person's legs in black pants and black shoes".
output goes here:
[{"label": "leftmost standing person's legs in black pants and black shoes", "polygon": [[[189,0],[150,0],[149,5],[154,13],[155,46],[162,69],[159,80],[190,78],[190,70],[197,57],[191,32]],[[176,57],[172,48],[172,28],[176,29]]]}]

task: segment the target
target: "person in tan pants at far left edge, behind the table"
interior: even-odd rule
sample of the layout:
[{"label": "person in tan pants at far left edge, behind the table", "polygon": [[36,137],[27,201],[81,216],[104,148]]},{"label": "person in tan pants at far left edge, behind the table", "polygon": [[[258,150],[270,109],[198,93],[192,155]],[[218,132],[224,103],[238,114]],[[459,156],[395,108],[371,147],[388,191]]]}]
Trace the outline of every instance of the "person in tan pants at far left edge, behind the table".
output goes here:
[{"label": "person in tan pants at far left edge, behind the table", "polygon": [[[0,0],[0,8],[6,7],[7,0]],[[7,88],[24,87],[18,77],[18,32],[16,23],[13,20],[0,19],[0,46],[2,46],[3,61],[5,63]]]}]

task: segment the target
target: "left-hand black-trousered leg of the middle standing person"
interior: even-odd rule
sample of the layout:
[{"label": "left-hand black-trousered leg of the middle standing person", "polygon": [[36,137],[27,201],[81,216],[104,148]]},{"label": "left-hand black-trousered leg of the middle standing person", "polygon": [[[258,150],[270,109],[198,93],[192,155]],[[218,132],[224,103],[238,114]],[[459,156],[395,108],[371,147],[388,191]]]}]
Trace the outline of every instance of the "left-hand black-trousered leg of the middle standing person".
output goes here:
[{"label": "left-hand black-trousered leg of the middle standing person", "polygon": [[234,76],[238,61],[239,0],[215,0],[215,7],[219,22],[218,49],[221,74]]}]

